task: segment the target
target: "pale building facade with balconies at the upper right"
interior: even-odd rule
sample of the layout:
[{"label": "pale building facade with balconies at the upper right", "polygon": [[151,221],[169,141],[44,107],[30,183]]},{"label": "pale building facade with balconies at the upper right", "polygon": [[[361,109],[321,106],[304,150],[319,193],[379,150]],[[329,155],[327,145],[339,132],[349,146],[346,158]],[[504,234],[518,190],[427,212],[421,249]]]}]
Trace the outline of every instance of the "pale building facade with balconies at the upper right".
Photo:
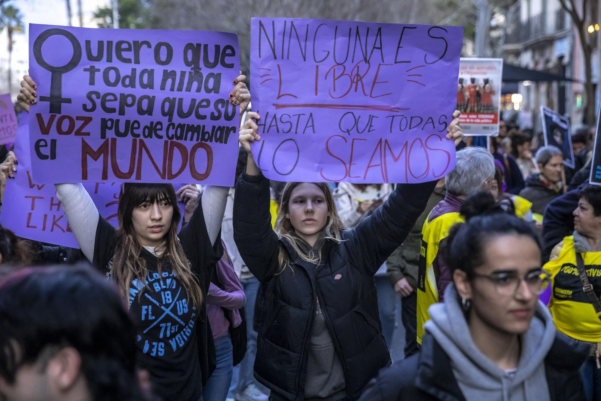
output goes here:
[{"label": "pale building facade with balconies at the upper right", "polygon": [[[569,1],[569,0],[567,0]],[[599,0],[588,1],[589,22],[599,23]],[[582,0],[576,0],[582,4]],[[582,7],[582,6],[581,6]],[[598,25],[597,25],[598,26]],[[593,52],[593,82],[599,82],[599,31],[590,34]],[[522,108],[532,111],[535,132],[542,128],[540,106],[552,108],[567,116],[573,127],[582,125],[585,116],[584,57],[572,18],[559,0],[518,0],[508,14],[505,42],[502,46],[505,63],[567,76],[573,81],[520,82]],[[597,99],[599,98],[598,92]]]}]

